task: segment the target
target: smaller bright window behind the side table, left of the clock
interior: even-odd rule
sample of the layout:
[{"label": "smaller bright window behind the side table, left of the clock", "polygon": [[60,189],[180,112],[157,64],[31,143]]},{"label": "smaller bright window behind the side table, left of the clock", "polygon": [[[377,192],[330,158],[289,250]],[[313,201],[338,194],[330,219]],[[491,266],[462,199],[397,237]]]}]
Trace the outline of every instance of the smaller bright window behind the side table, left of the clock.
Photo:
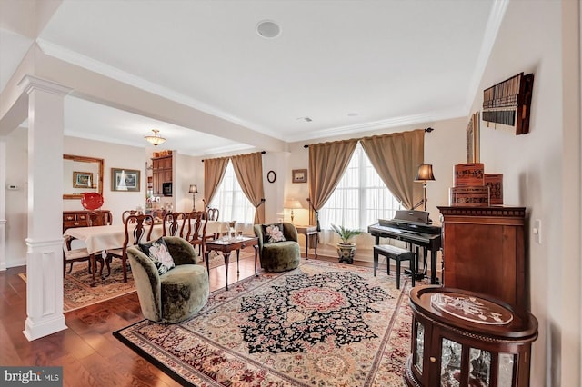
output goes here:
[{"label": "smaller bright window behind the side table, left of the clock", "polygon": [[246,198],[243,189],[236,180],[233,164],[228,161],[225,177],[216,190],[210,207],[220,210],[221,221],[236,221],[236,223],[250,223],[255,221],[255,207]]}]

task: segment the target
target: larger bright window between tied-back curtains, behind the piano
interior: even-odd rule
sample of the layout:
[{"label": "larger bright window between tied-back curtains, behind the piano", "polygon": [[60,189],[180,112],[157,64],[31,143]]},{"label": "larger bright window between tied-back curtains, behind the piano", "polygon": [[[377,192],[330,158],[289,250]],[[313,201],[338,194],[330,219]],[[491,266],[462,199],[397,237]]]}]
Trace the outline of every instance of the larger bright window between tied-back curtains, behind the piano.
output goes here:
[{"label": "larger bright window between tied-back curtains, behind the piano", "polygon": [[334,223],[367,230],[378,219],[392,219],[401,208],[358,143],[336,191],[319,211],[319,222],[323,229]]}]

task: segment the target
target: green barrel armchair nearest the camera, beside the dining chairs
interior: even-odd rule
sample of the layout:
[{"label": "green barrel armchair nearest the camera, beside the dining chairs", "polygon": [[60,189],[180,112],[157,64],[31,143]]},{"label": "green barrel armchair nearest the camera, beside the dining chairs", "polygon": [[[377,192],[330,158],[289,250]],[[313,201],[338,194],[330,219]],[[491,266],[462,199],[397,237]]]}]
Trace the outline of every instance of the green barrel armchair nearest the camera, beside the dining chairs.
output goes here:
[{"label": "green barrel armchair nearest the camera, beside the dining chairs", "polygon": [[208,273],[196,264],[196,251],[186,239],[165,236],[176,267],[159,274],[137,246],[127,248],[142,313],[157,323],[179,323],[193,316],[208,300]]}]

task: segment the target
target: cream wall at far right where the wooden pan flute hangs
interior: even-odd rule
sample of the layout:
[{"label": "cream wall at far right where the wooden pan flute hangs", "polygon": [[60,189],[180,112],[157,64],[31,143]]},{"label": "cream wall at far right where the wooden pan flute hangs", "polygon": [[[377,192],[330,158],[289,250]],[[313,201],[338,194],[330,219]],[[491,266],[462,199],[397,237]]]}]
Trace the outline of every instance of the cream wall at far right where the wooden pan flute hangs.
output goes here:
[{"label": "cream wall at far right where the wooden pan flute hangs", "polygon": [[[481,162],[487,170],[504,174],[505,203],[527,207],[531,311],[539,321],[531,366],[535,386],[579,385],[579,332],[567,333],[568,323],[562,318],[567,309],[578,311],[577,318],[580,309],[579,243],[573,243],[579,239],[579,163],[571,187],[563,175],[565,158],[579,160],[579,123],[568,126],[563,120],[563,83],[578,81],[579,91],[579,79],[568,80],[563,72],[566,52],[562,50],[579,55],[577,36],[562,35],[562,6],[567,3],[509,3],[472,106],[472,111],[481,109],[485,88],[520,72],[534,73],[530,133],[517,136],[482,124]],[[574,5],[576,21],[577,2],[570,5]],[[578,133],[572,136],[578,143],[572,153],[563,155],[572,131]],[[569,190],[577,196],[572,208],[575,223],[562,217],[563,206],[568,205],[563,197]],[[541,244],[529,232],[534,219],[543,224]],[[566,230],[572,229],[578,231],[577,237],[565,240]],[[575,254],[567,254],[565,248],[572,244],[578,248]],[[563,272],[571,273],[567,281]]]}]

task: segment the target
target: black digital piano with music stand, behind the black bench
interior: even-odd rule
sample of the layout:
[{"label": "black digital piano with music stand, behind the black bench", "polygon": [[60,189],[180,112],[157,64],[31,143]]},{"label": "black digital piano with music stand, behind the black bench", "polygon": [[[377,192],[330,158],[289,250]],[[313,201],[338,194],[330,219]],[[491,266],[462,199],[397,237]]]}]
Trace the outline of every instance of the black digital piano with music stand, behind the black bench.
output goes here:
[{"label": "black digital piano with music stand, behind the black bench", "polygon": [[426,252],[430,250],[430,283],[437,283],[437,252],[441,248],[441,227],[433,225],[426,211],[400,210],[393,219],[378,219],[367,227],[367,232],[376,238],[375,244],[380,244],[380,238],[396,239],[423,248],[426,273]]}]

